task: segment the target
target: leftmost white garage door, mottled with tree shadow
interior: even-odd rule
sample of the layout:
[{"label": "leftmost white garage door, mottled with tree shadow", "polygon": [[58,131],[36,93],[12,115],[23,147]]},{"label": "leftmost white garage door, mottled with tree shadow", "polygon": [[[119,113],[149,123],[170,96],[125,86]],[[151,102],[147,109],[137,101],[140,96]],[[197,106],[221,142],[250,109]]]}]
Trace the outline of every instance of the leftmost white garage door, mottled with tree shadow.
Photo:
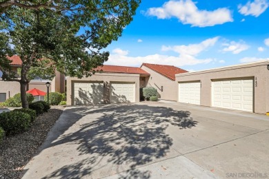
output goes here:
[{"label": "leftmost white garage door, mottled with tree shadow", "polygon": [[74,83],[74,105],[103,103],[103,82]]}]

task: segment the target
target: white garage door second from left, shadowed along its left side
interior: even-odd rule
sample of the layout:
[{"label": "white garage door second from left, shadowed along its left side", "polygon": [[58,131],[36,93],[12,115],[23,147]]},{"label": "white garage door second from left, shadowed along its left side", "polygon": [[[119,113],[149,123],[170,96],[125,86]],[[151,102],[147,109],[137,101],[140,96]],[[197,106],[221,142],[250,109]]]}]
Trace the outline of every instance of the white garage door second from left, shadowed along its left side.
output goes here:
[{"label": "white garage door second from left, shadowed along its left side", "polygon": [[110,103],[135,103],[135,83],[110,83]]}]

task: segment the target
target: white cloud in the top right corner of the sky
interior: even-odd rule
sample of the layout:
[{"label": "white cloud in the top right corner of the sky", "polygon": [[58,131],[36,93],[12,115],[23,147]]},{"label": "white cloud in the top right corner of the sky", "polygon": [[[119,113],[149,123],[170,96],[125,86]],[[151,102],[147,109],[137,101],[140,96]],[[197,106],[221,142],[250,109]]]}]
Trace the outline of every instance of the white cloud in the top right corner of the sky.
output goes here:
[{"label": "white cloud in the top right corner of the sky", "polygon": [[241,4],[238,6],[239,12],[245,16],[252,15],[259,17],[268,8],[268,0],[255,0],[253,2],[248,1],[244,6]]}]

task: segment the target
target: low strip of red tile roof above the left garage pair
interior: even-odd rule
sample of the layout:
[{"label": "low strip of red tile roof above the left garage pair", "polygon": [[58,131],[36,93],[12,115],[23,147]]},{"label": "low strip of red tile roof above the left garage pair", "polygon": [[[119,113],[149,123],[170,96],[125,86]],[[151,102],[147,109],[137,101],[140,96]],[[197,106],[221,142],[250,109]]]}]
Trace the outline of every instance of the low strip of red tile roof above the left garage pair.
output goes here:
[{"label": "low strip of red tile roof above the left garage pair", "polygon": [[125,67],[116,65],[103,65],[94,70],[103,70],[103,72],[110,73],[125,73],[125,74],[148,74],[148,72],[142,70],[140,67]]}]

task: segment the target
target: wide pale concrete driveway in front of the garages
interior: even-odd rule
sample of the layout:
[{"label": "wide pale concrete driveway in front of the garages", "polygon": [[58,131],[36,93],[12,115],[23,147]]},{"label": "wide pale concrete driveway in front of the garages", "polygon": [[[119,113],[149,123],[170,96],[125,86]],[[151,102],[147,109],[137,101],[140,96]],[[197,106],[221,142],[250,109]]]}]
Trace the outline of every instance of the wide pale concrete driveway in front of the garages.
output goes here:
[{"label": "wide pale concrete driveway in front of the garages", "polygon": [[66,107],[23,178],[269,177],[268,139],[260,114],[181,103]]}]

